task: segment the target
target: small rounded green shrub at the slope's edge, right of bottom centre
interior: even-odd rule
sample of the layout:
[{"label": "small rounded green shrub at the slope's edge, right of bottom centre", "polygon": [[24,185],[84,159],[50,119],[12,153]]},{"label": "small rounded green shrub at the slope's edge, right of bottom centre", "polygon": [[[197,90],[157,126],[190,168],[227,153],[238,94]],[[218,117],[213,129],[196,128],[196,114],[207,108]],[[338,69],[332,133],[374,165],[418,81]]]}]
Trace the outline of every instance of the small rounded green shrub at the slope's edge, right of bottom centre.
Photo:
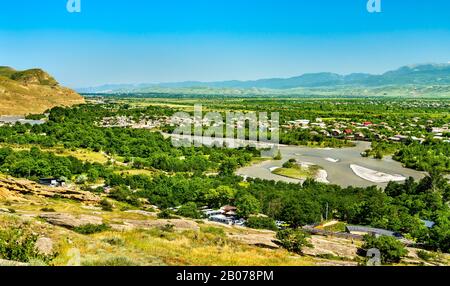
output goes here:
[{"label": "small rounded green shrub at the slope's edge, right of bottom centre", "polygon": [[313,247],[309,242],[310,234],[298,229],[283,229],[277,232],[281,247],[287,251],[303,255],[304,247]]}]

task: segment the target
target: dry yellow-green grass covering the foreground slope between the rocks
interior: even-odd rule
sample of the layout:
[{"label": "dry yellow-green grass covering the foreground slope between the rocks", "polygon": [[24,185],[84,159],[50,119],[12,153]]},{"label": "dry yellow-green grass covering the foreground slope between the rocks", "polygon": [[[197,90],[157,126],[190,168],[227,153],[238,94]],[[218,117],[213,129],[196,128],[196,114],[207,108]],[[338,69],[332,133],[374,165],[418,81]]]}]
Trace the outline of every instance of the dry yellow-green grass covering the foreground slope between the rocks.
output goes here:
[{"label": "dry yellow-green grass covering the foreground slope between the rocks", "polygon": [[103,212],[62,199],[30,195],[0,196],[0,208],[16,211],[14,214],[0,213],[0,228],[28,221],[27,225],[35,233],[54,241],[58,252],[54,265],[73,263],[73,253],[77,252],[81,255],[82,265],[314,265],[321,261],[312,257],[292,256],[284,250],[245,245],[226,235],[238,234],[242,230],[211,227],[207,223],[199,224],[200,230],[176,229],[172,232],[150,228],[81,235],[33,218],[42,213],[44,207],[74,215],[99,215],[107,223],[155,218],[119,210]]}]

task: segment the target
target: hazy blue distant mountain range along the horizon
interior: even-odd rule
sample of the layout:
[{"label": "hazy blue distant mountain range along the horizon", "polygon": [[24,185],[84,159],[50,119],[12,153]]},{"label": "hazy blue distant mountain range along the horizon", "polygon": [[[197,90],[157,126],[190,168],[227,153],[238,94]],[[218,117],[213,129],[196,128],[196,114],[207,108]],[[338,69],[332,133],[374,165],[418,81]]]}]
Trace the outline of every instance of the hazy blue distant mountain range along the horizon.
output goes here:
[{"label": "hazy blue distant mountain range along the horizon", "polygon": [[174,82],[158,84],[109,84],[77,89],[80,93],[143,92],[151,88],[332,88],[380,87],[389,85],[450,85],[450,64],[422,64],[401,67],[381,75],[353,73],[308,73],[291,78],[270,78],[253,81]]}]

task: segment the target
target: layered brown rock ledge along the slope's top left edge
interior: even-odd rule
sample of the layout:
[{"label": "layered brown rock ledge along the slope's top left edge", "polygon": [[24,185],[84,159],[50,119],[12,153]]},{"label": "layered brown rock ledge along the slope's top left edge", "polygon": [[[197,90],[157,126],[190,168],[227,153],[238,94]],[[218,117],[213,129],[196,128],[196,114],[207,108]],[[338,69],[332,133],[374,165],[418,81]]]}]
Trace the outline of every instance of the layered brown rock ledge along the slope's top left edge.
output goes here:
[{"label": "layered brown rock ledge along the slope's top left edge", "polygon": [[65,198],[81,202],[97,203],[100,198],[93,193],[77,190],[75,187],[53,188],[42,186],[28,180],[0,178],[0,195],[3,197],[14,195],[36,195],[47,198]]}]

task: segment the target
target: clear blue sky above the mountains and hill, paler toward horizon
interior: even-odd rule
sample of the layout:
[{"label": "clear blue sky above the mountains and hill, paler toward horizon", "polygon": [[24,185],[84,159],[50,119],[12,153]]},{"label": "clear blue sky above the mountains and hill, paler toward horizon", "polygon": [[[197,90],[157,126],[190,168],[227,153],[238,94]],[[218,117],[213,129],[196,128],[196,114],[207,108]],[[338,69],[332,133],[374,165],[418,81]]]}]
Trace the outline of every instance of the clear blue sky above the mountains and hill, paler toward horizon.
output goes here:
[{"label": "clear blue sky above the mountains and hill, paler toward horizon", "polygon": [[450,1],[0,0],[0,65],[70,87],[307,72],[381,73],[450,61]]}]

